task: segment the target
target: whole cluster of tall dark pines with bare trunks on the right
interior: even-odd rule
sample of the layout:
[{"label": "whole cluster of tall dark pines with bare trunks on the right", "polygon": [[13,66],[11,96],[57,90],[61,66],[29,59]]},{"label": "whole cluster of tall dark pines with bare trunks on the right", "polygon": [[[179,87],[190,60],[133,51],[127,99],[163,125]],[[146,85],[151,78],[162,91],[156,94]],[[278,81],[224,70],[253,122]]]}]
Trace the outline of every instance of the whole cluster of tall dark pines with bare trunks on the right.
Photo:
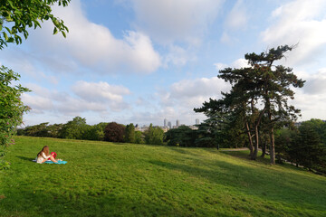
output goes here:
[{"label": "whole cluster of tall dark pines with bare trunks on the right", "polygon": [[[257,157],[262,139],[260,127],[264,124],[270,136],[271,164],[275,164],[274,127],[279,122],[294,120],[300,112],[288,105],[288,100],[293,99],[294,95],[290,87],[302,88],[304,81],[297,79],[291,68],[273,65],[274,61],[281,60],[284,53],[291,50],[292,47],[284,45],[260,54],[254,52],[245,54],[248,67],[225,68],[219,71],[217,76],[232,85],[231,91],[222,92],[223,99],[210,99],[209,102],[204,102],[202,108],[195,109],[205,114],[220,112],[241,119],[248,137],[252,159]],[[259,104],[262,104],[262,108],[258,107]]]}]

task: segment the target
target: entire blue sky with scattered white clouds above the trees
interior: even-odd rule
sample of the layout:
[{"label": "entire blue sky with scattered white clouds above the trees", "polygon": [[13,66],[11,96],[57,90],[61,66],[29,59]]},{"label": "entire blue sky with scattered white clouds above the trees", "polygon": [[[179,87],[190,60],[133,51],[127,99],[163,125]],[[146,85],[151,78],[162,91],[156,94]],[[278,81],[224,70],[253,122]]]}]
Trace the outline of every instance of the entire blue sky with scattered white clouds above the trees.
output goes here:
[{"label": "entire blue sky with scattered white clouds above the trees", "polygon": [[195,124],[193,109],[230,89],[218,70],[245,66],[245,53],[298,44],[283,65],[305,86],[292,105],[302,118],[326,119],[324,0],[72,0],[53,7],[70,32],[31,30],[0,63],[33,90],[24,124]]}]

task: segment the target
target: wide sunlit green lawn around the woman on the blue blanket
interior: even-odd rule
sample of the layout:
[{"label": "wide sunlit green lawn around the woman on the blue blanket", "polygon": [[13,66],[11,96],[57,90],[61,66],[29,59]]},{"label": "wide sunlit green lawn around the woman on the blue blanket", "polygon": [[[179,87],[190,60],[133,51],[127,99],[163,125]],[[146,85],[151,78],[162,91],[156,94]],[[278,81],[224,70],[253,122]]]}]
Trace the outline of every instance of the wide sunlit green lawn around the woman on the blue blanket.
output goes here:
[{"label": "wide sunlit green lawn around the woman on the blue blanket", "polygon": [[[0,216],[326,216],[326,177],[216,149],[16,137]],[[32,160],[44,145],[67,165]]]}]

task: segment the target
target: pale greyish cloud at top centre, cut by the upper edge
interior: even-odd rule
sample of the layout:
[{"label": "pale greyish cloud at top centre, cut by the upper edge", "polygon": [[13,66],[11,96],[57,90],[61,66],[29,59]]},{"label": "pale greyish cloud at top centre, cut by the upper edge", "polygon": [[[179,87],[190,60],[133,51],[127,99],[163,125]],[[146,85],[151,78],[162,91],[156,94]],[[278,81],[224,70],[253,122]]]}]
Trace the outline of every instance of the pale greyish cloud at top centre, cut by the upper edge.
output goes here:
[{"label": "pale greyish cloud at top centre, cut by the upper edge", "polygon": [[222,0],[129,0],[136,14],[136,28],[157,42],[198,44],[213,23]]}]

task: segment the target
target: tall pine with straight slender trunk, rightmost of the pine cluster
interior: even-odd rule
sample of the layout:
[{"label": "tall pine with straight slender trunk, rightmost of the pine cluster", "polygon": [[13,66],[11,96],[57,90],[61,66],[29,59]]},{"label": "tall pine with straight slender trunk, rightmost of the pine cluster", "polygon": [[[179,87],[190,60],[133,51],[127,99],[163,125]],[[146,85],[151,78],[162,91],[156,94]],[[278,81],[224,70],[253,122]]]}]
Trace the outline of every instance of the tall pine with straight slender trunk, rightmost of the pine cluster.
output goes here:
[{"label": "tall pine with straight slender trunk, rightmost of the pine cluster", "polygon": [[272,48],[268,52],[261,54],[245,54],[245,59],[249,61],[254,71],[256,71],[256,83],[260,87],[259,99],[263,99],[264,110],[268,118],[270,135],[270,157],[271,164],[275,164],[274,152],[274,127],[279,121],[289,122],[295,120],[300,113],[288,104],[289,99],[294,99],[294,88],[302,88],[304,80],[299,80],[293,74],[292,68],[283,65],[273,65],[274,61],[283,59],[284,53],[292,51],[288,45]]}]

